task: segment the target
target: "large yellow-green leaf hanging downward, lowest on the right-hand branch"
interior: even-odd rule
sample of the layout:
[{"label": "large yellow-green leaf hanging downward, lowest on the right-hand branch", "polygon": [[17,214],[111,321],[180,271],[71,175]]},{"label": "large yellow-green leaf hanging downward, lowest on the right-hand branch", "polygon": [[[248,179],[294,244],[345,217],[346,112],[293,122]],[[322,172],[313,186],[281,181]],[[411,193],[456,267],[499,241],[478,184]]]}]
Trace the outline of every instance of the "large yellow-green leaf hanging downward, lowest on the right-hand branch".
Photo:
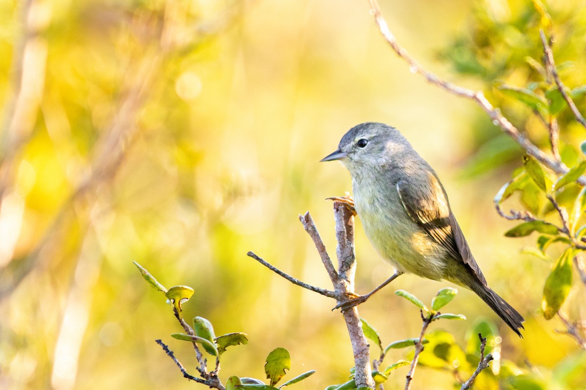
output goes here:
[{"label": "large yellow-green leaf hanging downward, lowest on the right-hand branch", "polygon": [[572,287],[572,252],[571,249],[564,251],[546,279],[543,301],[541,301],[543,316],[546,320],[556,315]]}]

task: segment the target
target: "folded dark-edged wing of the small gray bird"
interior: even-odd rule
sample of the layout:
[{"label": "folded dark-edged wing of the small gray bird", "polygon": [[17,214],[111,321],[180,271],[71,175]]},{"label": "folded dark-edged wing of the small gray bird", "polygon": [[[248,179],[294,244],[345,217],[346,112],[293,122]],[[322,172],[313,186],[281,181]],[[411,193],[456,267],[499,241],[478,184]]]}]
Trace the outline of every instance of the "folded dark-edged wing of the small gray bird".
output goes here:
[{"label": "folded dark-edged wing of the small gray bird", "polygon": [[429,172],[429,183],[428,187],[415,187],[406,180],[397,182],[399,198],[407,215],[451,257],[468,265],[476,277],[486,284],[464,233],[449,208],[444,187],[432,172]]}]

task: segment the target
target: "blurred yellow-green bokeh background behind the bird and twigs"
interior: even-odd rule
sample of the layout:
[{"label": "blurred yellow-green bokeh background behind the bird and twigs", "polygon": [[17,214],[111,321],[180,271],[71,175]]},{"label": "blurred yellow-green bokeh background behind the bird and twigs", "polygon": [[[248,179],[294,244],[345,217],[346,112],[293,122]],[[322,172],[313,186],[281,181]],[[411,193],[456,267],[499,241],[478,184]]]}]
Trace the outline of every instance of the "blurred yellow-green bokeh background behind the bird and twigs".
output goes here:
[{"label": "blurred yellow-green bokeh background behind the bird and twigs", "polygon": [[[464,55],[456,37],[478,7],[506,18],[526,3],[381,6],[427,68],[481,88],[454,73],[451,62]],[[578,353],[554,332],[561,323],[540,314],[550,265],[520,254],[523,240],[503,237],[511,225],[492,206],[521,151],[500,138],[500,155],[483,149],[498,129],[471,102],[411,73],[366,1],[2,0],[0,102],[0,388],[203,388],[155,344],[170,344],[195,373],[189,344],[169,336],[181,330],[171,306],[132,261],[166,287],[195,289],[187,318],[206,317],[216,334],[248,334],[246,347],[223,356],[223,381],[263,378],[264,357],[279,346],[291,352],[291,377],[318,370],[298,389],[345,381],[352,351],[335,303],[246,253],[330,287],[297,216],[312,213],[333,256],[324,199],[351,183],[340,164],[318,161],[366,121],[396,126],[435,167],[490,285],[527,319],[520,340],[460,289],[449,311],[468,320],[432,326],[464,340],[475,320],[495,320],[503,357],[545,372]],[[367,292],[393,270],[359,221],[356,251],[357,288]],[[415,337],[418,312],[394,290],[430,302],[447,285],[403,276],[360,314],[383,343]],[[388,388],[404,381],[395,372]],[[452,382],[450,372],[418,374],[417,388]]]}]

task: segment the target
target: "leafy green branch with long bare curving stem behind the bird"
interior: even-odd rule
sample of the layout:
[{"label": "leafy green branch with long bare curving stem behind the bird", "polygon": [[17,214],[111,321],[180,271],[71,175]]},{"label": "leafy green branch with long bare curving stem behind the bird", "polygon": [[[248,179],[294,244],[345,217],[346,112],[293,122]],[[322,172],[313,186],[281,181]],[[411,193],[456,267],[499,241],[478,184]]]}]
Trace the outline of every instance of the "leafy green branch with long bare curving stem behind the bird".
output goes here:
[{"label": "leafy green branch with long bare curving stem behind the bird", "polygon": [[[559,151],[561,129],[557,121],[564,109],[570,108],[574,120],[586,127],[586,121],[574,102],[574,98],[584,96],[586,89],[584,86],[569,89],[561,81],[551,48],[551,44],[554,42],[553,36],[551,36],[553,31],[551,16],[548,15],[541,2],[533,2],[534,12],[539,15],[541,23],[544,23],[550,33],[548,38],[543,29],[540,29],[539,32],[536,31],[543,49],[544,65],[541,66],[529,57],[530,64],[538,71],[537,73],[541,75],[542,80],[533,81],[526,88],[501,84],[497,89],[504,95],[523,103],[535,115],[539,116],[547,128],[553,156],[549,156],[529,140],[527,135],[517,129],[499,108],[495,108],[486,99],[482,91],[473,91],[452,84],[426,70],[407,53],[406,49],[398,44],[383,18],[377,0],[369,0],[369,2],[372,8],[370,13],[374,16],[384,39],[389,43],[391,49],[407,62],[412,73],[422,75],[428,82],[450,94],[475,102],[489,116],[493,124],[499,126],[505,134],[515,140],[526,153],[524,169],[500,189],[495,197],[495,208],[503,218],[523,221],[505,233],[506,236],[523,237],[533,232],[541,234],[537,239],[539,251],[535,252],[540,258],[548,259],[546,249],[550,244],[562,243],[567,246],[557,261],[553,262],[551,272],[544,285],[543,313],[546,319],[551,319],[559,312],[572,287],[572,259],[581,259],[581,251],[586,250],[584,244],[586,242],[586,223],[582,218],[586,213],[586,187],[584,187],[586,186],[586,177],[584,177],[586,161],[575,161],[568,168],[561,160]],[[586,153],[586,141],[581,144],[581,150]],[[515,192],[519,192],[520,201],[526,210],[503,212],[502,202]],[[571,212],[568,212],[568,209]],[[551,222],[548,216],[551,212],[556,212],[558,222]],[[574,260],[574,264],[578,264],[578,261]],[[576,268],[578,268],[582,283],[586,285],[584,267]],[[563,322],[568,326],[569,322]],[[574,337],[578,345],[584,348],[584,343],[582,343],[584,336],[575,327],[568,327],[566,333]]]}]

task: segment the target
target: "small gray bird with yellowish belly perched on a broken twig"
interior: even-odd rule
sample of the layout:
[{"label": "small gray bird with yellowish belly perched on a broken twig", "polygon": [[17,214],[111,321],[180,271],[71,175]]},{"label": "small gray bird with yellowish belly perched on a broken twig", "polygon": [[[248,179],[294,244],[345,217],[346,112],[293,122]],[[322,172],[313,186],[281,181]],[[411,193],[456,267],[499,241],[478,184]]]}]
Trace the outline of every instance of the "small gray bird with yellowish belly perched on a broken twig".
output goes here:
[{"label": "small gray bird with yellowish belly perched on a broken twig", "polygon": [[[522,337],[523,317],[488,287],[440,179],[397,129],[374,122],[357,125],[321,161],[333,160],[352,175],[353,206],[370,242],[397,270],[349,306],[366,301],[403,273],[445,279],[475,292]],[[352,205],[351,199],[346,202]]]}]

